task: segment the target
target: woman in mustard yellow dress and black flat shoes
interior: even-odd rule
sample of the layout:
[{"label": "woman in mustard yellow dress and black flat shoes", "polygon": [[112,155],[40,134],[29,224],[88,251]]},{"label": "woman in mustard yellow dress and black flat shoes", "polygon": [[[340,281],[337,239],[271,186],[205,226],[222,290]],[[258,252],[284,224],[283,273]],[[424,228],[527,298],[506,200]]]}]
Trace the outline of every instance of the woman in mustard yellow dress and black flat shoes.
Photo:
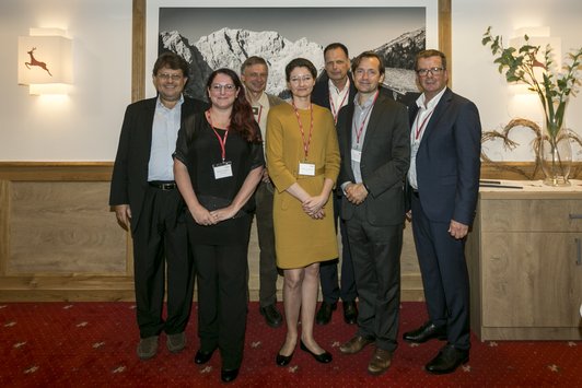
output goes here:
[{"label": "woman in mustard yellow dress and black flat shoes", "polygon": [[313,338],[319,262],[338,256],[331,189],[339,150],[331,113],[311,103],[317,71],[303,58],[286,67],[291,104],[271,107],[267,120],[267,168],[277,190],[273,226],[277,264],[284,271],[286,341],[277,365],[291,362],[301,314],[301,350],[321,363],[331,361]]}]

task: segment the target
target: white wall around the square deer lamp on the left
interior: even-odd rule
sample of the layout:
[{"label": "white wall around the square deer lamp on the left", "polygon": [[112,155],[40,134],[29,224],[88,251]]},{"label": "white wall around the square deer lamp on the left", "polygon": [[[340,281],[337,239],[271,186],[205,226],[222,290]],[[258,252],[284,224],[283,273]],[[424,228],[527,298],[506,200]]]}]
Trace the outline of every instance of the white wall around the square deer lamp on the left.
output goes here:
[{"label": "white wall around the square deer lamp on the left", "polygon": [[[18,37],[57,27],[73,39],[65,97],[18,85]],[[0,161],[112,161],[131,99],[131,0],[0,2]]]}]

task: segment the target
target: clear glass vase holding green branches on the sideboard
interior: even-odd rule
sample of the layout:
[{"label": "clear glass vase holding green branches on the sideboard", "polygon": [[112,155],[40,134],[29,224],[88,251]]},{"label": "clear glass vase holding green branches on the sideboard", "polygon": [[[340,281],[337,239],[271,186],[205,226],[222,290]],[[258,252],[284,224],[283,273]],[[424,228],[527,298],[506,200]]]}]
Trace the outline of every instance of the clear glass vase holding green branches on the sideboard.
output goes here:
[{"label": "clear glass vase holding green branches on the sideboard", "polygon": [[572,144],[568,129],[562,127],[555,132],[555,136],[545,131],[539,142],[538,156],[545,176],[545,185],[570,186],[568,176],[572,168]]}]

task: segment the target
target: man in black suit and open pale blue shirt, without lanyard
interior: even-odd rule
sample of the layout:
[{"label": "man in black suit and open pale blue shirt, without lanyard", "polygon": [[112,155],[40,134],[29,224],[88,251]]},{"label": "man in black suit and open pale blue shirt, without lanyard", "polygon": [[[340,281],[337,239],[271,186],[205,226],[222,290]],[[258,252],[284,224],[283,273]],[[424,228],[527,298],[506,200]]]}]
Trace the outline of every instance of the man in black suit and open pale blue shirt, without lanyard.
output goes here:
[{"label": "man in black suit and open pale blue shirt, without lanyard", "polygon": [[[158,97],[127,107],[115,165],[109,205],[119,224],[133,238],[133,277],[141,360],[158,351],[158,338],[167,334],[167,349],[177,353],[186,344],[194,264],[188,252],[182,197],[173,174],[172,154],[181,122],[206,104],[184,97],[188,63],[173,52],[161,55],[153,67]],[[165,267],[167,317],[164,321]]]}]

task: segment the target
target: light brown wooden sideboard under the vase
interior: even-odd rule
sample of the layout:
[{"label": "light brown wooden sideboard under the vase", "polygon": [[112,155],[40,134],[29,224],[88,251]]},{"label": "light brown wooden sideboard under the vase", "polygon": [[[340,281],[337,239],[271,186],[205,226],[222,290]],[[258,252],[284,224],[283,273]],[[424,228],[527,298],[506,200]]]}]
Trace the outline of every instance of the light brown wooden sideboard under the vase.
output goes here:
[{"label": "light brown wooden sideboard under the vase", "polygon": [[582,340],[581,256],[581,180],[481,188],[467,240],[473,331],[481,340]]}]

